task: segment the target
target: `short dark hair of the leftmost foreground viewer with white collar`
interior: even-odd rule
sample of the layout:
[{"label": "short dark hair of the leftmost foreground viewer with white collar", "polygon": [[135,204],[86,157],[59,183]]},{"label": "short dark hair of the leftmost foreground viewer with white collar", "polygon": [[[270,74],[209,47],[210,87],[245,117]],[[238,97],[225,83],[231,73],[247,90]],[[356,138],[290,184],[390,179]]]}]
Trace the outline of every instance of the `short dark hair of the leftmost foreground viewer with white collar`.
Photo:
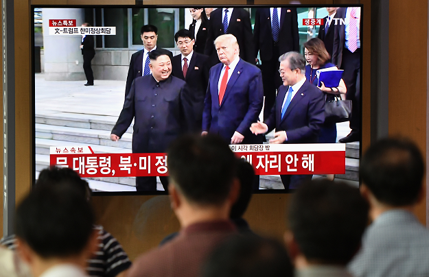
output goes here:
[{"label": "short dark hair of the leftmost foreground viewer with white collar", "polygon": [[16,209],[16,236],[42,258],[81,254],[93,223],[93,210],[75,186],[36,187]]}]

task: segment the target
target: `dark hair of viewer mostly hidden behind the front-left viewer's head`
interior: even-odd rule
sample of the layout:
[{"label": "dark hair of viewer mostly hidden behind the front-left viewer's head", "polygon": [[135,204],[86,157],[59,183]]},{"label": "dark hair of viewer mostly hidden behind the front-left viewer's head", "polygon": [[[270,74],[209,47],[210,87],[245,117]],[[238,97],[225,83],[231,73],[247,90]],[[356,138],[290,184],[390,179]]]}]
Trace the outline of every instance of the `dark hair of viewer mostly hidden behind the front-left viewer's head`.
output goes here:
[{"label": "dark hair of viewer mostly hidden behind the front-left viewer's head", "polygon": [[69,167],[50,167],[43,169],[34,184],[36,188],[45,186],[74,186],[84,200],[91,199],[91,189],[88,182],[80,178],[79,174]]}]

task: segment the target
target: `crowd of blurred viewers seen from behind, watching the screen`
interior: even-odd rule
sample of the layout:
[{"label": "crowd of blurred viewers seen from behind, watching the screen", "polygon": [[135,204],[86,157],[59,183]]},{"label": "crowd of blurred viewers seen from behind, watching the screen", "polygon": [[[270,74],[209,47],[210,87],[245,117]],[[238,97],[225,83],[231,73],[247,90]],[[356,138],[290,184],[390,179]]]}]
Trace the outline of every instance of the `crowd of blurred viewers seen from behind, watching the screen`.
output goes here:
[{"label": "crowd of blurred viewers seen from behind, watching the screen", "polygon": [[95,225],[78,173],[40,172],[1,241],[0,276],[404,277],[429,276],[429,231],[413,215],[424,197],[424,160],[407,139],[373,143],[360,189],[327,179],[299,186],[283,241],[243,219],[254,171],[218,136],[181,136],[168,149],[170,204],[181,230],[131,264]]}]

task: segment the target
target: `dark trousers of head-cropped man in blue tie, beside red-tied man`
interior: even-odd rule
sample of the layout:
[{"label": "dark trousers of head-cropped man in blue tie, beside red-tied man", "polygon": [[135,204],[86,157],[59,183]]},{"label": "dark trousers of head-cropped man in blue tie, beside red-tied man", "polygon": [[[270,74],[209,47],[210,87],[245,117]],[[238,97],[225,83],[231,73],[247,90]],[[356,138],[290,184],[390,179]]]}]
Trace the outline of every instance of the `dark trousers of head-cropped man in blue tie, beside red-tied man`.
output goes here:
[{"label": "dark trousers of head-cropped man in blue tie, beside red-tied man", "polygon": [[[283,54],[283,53],[281,53]],[[261,64],[262,82],[264,84],[264,120],[270,117],[271,109],[275,103],[276,90],[283,84],[279,74],[279,47],[277,43],[273,43],[273,56],[271,60],[263,60]]]}]

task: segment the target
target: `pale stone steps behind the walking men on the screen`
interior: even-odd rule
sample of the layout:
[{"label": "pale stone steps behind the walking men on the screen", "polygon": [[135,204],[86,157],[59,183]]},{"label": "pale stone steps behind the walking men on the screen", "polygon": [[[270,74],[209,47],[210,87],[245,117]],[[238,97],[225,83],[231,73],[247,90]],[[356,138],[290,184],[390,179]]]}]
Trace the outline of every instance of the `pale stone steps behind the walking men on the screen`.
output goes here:
[{"label": "pale stone steps behind the walking men on the screen", "polygon": [[[132,125],[120,141],[110,139],[116,119],[67,112],[57,115],[36,112],[36,172],[49,166],[50,146],[91,146],[95,153],[131,153]],[[346,157],[346,173],[336,178],[358,186],[359,143],[347,143]],[[89,184],[95,191],[135,191],[135,178],[90,178]],[[260,184],[265,189],[283,189],[279,176],[261,176]],[[160,183],[158,189],[163,190]]]}]

